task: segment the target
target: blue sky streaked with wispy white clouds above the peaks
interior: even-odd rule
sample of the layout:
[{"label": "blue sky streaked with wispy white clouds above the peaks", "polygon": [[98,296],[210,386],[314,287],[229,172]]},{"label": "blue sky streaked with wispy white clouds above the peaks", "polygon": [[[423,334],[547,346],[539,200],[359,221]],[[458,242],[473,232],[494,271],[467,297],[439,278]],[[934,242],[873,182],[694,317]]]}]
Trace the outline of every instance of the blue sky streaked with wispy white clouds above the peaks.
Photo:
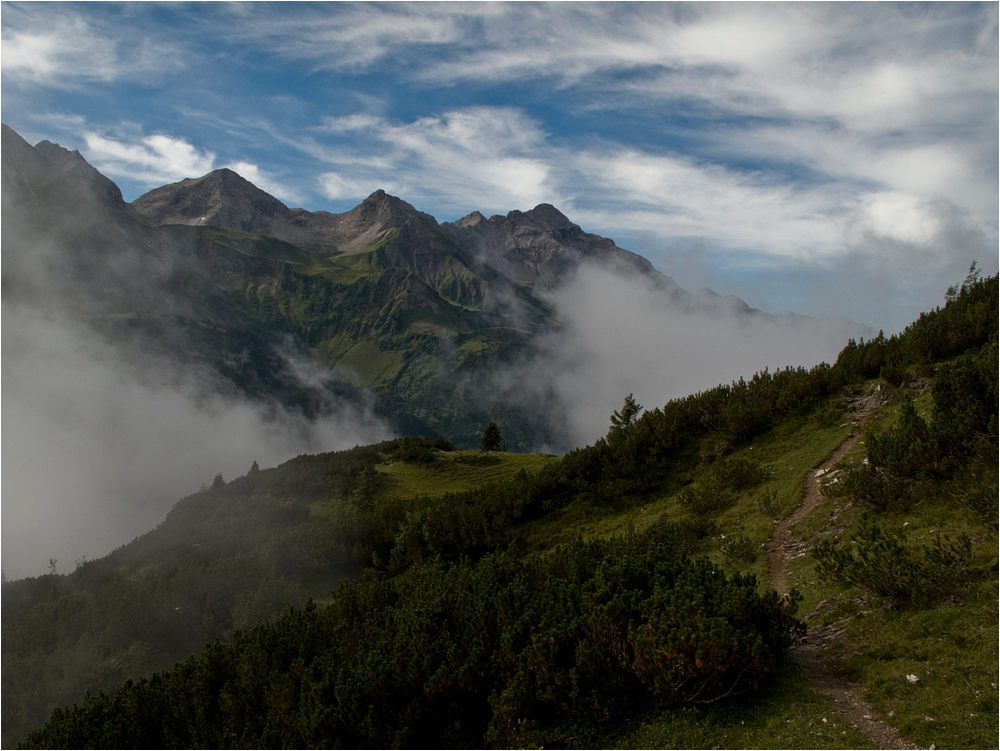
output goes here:
[{"label": "blue sky streaked with wispy white clouds above the peaks", "polygon": [[127,200],[552,203],[682,286],[897,331],[998,265],[996,3],[3,3],[2,118]]}]

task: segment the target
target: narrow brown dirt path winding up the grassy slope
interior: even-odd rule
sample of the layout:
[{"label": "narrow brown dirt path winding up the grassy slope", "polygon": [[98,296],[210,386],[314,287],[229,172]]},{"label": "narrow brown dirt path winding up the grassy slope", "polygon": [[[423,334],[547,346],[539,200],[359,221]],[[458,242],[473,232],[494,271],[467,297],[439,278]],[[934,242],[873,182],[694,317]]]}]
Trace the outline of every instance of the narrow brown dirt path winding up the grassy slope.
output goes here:
[{"label": "narrow brown dirt path winding up the grassy slope", "polygon": [[[855,430],[850,437],[820,464],[806,479],[805,498],[802,504],[775,527],[765,543],[771,586],[779,593],[788,593],[788,562],[805,551],[805,545],[791,533],[791,527],[805,518],[823,500],[820,493],[820,470],[829,471],[854,446],[859,437]],[[894,727],[880,718],[875,710],[861,698],[860,690],[831,667],[830,648],[843,632],[844,624],[833,623],[825,627],[810,628],[805,639],[791,650],[792,661],[820,691],[829,696],[837,711],[859,732],[866,735],[878,748],[917,748],[904,740]]]}]

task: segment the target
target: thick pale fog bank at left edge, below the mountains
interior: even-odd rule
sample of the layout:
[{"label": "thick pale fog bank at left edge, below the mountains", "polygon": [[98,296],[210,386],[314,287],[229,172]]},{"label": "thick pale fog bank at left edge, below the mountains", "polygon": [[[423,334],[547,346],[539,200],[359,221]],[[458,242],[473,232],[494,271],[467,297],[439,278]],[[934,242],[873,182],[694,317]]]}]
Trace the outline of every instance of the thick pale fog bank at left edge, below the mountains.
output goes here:
[{"label": "thick pale fog bank at left edge, below the mountains", "polygon": [[82,324],[4,304],[3,570],[59,573],[160,523],[181,497],[303,452],[383,440],[366,404],[305,420],[219,395],[205,372],[139,367]]}]

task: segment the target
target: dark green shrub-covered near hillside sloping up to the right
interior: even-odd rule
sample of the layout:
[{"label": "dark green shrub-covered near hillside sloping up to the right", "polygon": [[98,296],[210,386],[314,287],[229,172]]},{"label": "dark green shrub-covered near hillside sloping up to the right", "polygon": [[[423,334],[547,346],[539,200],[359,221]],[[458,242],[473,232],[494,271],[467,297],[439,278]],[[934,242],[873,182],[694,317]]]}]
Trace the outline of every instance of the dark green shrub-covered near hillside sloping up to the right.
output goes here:
[{"label": "dark green shrub-covered near hillside sloping up to the right", "polygon": [[[822,466],[828,480],[842,479],[828,482],[820,507],[794,528],[815,552],[789,572],[813,611],[810,639],[841,649],[829,635],[849,620],[853,641],[841,651],[868,676],[883,717],[891,709],[904,735],[924,745],[981,747],[991,724],[995,735],[997,290],[996,278],[972,280],[904,334],[849,342],[832,367],[758,373],[671,401],[614,421],[605,438],[563,458],[456,453],[403,439],[220,479],[107,559],[68,577],[5,585],[5,650],[23,642],[5,655],[14,668],[5,682],[40,686],[28,671],[45,675],[58,660],[79,666],[74,680],[83,682],[95,664],[148,670],[149,645],[211,637],[199,630],[206,624],[249,625],[283,598],[301,602],[346,572],[345,562],[378,573],[342,587],[328,608],[288,613],[153,681],[127,684],[116,699],[57,713],[31,743],[162,745],[158,734],[168,733],[187,738],[181,745],[267,745],[284,733],[302,744],[355,746],[433,738],[462,747],[858,747],[864,739],[842,734],[850,731],[834,704],[770,662],[789,622],[774,622],[769,655],[749,646],[725,653],[724,676],[734,655],[760,658],[748,666],[748,675],[763,668],[753,692],[718,696],[729,683],[699,682],[720,645],[747,625],[741,613],[756,618],[780,603],[749,597],[767,572],[761,542]],[[830,471],[821,462],[853,430],[850,405],[873,408],[871,394],[881,396],[880,429],[868,434],[863,457],[854,452]],[[908,416],[914,396],[920,414]],[[896,545],[873,540],[872,522]],[[971,535],[969,553],[959,533]],[[851,535],[877,543],[874,557],[858,558]],[[662,581],[647,586],[644,577],[679,551],[711,561],[692,569],[711,586],[699,590],[684,567],[658,569],[665,581],[692,584],[688,599],[674,600]],[[740,578],[748,574],[757,579]],[[731,589],[734,581],[746,592]],[[895,588],[883,589],[887,582]],[[656,607],[647,611],[640,603],[651,593]],[[712,610],[723,600],[739,607]],[[120,608],[114,619],[104,616],[111,604]],[[708,614],[711,627],[696,627]],[[81,634],[87,618],[113,634],[60,641]],[[674,639],[671,618],[691,634]],[[521,625],[507,630],[512,623]],[[684,645],[707,633],[712,643],[686,660]],[[506,651],[496,649],[497,634]],[[657,654],[670,658],[657,663]],[[917,673],[917,683],[906,680]],[[377,690],[366,695],[359,674]],[[541,677],[532,682],[532,674]],[[676,693],[654,675],[678,678]],[[692,685],[718,704],[678,709]],[[489,701],[494,689],[506,699]],[[5,691],[5,709],[8,696],[28,695]],[[212,708],[212,721],[188,702]],[[251,727],[253,739],[224,736]],[[192,740],[191,732],[204,735]]]}]

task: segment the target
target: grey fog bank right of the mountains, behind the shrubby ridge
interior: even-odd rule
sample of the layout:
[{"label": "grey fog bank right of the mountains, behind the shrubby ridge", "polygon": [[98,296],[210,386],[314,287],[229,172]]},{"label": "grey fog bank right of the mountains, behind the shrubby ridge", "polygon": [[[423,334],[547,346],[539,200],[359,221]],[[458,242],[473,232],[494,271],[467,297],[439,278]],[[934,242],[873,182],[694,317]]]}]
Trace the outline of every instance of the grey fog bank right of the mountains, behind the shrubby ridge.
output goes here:
[{"label": "grey fog bank right of the mountains, behind the shrubby ridge", "polygon": [[764,368],[832,363],[850,337],[872,334],[843,320],[740,314],[726,298],[685,307],[647,277],[596,265],[582,266],[548,301],[562,330],[500,381],[551,412],[569,447],[607,433],[630,393],[662,407]]}]

